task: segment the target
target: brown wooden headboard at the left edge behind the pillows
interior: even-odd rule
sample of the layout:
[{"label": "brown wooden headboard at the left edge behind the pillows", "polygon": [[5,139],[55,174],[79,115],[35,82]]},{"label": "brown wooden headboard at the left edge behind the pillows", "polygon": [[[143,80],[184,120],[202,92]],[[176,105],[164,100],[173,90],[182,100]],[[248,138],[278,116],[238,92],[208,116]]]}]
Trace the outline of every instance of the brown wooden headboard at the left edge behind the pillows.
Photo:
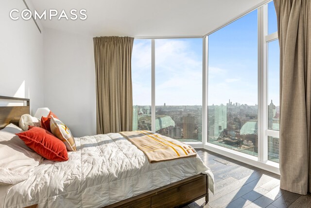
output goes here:
[{"label": "brown wooden headboard at the left edge behind the pillows", "polygon": [[0,106],[0,129],[3,129],[9,123],[13,123],[18,126],[20,116],[23,114],[29,114],[30,112],[30,100],[28,98],[0,96],[0,100],[23,101],[23,106]]}]

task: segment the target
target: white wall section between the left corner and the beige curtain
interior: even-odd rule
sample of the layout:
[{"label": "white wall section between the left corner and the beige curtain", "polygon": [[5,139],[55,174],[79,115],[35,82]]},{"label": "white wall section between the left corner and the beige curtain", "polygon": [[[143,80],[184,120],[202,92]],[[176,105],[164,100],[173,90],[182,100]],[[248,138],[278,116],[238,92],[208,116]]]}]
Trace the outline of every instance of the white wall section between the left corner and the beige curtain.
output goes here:
[{"label": "white wall section between the left corner and the beige curtain", "polygon": [[44,34],[44,105],[73,136],[96,134],[93,38],[53,29]]}]

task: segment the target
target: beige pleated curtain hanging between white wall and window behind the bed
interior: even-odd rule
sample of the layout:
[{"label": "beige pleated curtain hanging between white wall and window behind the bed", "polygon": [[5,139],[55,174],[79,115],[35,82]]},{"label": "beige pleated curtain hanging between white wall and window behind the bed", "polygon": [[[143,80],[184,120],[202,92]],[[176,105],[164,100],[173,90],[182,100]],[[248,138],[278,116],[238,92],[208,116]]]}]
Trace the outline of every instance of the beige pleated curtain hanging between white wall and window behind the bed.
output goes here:
[{"label": "beige pleated curtain hanging between white wall and window behind the bed", "polygon": [[132,131],[131,57],[134,38],[94,40],[97,133]]}]

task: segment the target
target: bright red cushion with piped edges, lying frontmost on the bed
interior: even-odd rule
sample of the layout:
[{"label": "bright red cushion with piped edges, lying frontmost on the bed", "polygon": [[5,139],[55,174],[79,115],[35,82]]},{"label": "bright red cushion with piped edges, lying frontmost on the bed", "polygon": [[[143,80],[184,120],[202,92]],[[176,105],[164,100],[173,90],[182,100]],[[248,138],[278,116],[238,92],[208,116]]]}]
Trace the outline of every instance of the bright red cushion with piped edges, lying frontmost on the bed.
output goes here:
[{"label": "bright red cushion with piped edges, lying frontmost on the bed", "polygon": [[18,135],[29,148],[48,160],[68,160],[68,152],[64,142],[40,127],[32,126],[28,131],[16,133],[16,135]]}]

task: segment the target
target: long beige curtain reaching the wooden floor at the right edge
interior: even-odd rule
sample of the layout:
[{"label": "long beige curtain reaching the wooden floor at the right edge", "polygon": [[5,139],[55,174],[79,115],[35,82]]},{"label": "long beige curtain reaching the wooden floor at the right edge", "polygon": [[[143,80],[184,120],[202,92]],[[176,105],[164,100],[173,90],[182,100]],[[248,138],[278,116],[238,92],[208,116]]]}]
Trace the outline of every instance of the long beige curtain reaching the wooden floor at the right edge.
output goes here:
[{"label": "long beige curtain reaching the wooden floor at the right edge", "polygon": [[274,0],[280,45],[281,189],[311,190],[310,0]]}]

